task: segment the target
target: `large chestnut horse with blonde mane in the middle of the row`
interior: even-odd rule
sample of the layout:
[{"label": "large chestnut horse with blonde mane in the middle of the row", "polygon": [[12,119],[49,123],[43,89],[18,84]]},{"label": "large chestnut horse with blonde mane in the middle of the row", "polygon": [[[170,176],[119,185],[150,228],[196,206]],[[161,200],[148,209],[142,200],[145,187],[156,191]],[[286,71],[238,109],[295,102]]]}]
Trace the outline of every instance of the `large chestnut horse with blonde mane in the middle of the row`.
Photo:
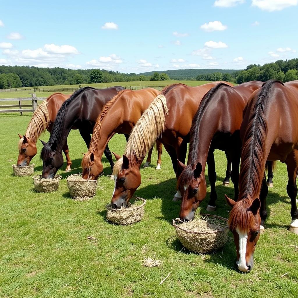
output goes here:
[{"label": "large chestnut horse with blonde mane in the middle of the row", "polygon": [[[115,179],[111,203],[113,207],[125,206],[141,184],[139,166],[156,139],[169,153],[176,177],[179,177],[181,171],[177,167],[177,158],[182,162],[185,161],[195,112],[206,92],[218,83],[220,82],[198,87],[173,84],[164,88],[153,100],[132,130],[123,157],[114,154],[118,160],[113,169]],[[181,194],[177,191],[174,199],[179,198]]]}]

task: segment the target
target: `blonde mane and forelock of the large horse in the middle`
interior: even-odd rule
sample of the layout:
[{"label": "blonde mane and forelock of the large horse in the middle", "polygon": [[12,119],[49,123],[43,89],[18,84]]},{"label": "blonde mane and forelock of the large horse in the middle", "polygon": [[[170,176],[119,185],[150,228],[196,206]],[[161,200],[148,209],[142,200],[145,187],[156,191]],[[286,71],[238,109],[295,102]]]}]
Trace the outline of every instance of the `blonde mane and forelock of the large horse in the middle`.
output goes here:
[{"label": "blonde mane and forelock of the large horse in the middle", "polygon": [[[135,165],[144,159],[153,143],[164,131],[165,116],[168,115],[167,99],[159,94],[142,114],[125,146],[124,155]],[[113,175],[121,175],[122,158],[114,164]]]}]

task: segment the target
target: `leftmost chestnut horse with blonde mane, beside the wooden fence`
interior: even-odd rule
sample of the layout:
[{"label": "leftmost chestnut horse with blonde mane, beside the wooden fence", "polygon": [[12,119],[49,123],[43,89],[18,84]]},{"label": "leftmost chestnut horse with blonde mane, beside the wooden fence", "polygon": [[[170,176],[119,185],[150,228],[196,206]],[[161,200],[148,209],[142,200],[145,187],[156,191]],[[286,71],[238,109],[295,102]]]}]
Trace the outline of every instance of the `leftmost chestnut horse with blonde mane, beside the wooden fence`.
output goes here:
[{"label": "leftmost chestnut horse with blonde mane, beside the wooden fence", "polygon": [[[24,136],[20,134],[18,142],[18,167],[24,167],[30,163],[32,158],[37,153],[36,142],[39,136],[45,131],[52,131],[52,126],[55,121],[58,110],[61,105],[70,97],[71,94],[54,93],[44,100],[35,110],[28,124]],[[66,172],[70,171],[72,161],[68,154],[67,142],[63,147],[63,152],[66,156]]]}]

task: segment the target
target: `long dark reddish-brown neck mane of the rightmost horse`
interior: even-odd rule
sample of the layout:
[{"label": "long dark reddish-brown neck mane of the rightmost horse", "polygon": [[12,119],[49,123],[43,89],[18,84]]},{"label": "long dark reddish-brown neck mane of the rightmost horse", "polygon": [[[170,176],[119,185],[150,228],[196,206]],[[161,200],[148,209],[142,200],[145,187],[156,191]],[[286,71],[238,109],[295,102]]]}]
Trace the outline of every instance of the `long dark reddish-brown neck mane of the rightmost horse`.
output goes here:
[{"label": "long dark reddish-brown neck mane of the rightmost horse", "polygon": [[264,148],[268,131],[264,111],[274,83],[283,85],[280,81],[269,80],[261,87],[244,135],[246,141],[241,154],[240,199],[253,198],[253,195],[260,192],[266,163]]}]

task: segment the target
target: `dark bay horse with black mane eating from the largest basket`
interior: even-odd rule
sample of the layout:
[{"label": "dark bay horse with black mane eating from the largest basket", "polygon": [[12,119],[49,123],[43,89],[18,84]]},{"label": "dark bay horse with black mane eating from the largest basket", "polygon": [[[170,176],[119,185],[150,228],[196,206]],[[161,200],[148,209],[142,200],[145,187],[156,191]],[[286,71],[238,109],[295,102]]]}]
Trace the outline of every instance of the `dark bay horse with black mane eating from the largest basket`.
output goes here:
[{"label": "dark bay horse with black mane eating from the largest basket", "polygon": [[182,195],[181,219],[193,219],[198,205],[206,196],[204,174],[206,162],[211,187],[207,211],[214,211],[216,208],[215,149],[226,151],[226,155],[232,161],[231,179],[234,184],[235,200],[238,199],[241,155],[239,131],[243,110],[251,94],[262,84],[260,81],[252,81],[231,87],[221,83],[203,97],[190,129],[187,166],[178,161],[182,171],[177,182],[177,189]]}]

